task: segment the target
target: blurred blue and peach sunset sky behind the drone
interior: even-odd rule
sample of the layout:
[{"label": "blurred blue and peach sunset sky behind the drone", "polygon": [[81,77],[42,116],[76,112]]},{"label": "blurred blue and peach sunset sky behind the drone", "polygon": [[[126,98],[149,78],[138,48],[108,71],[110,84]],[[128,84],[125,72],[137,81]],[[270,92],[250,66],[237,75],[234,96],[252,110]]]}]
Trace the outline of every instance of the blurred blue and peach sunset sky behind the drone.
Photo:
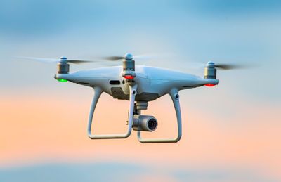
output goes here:
[{"label": "blurred blue and peach sunset sky behind the drone", "polygon": [[[0,2],[1,181],[280,181],[280,1]],[[180,91],[178,143],[90,140],[93,90],[53,79],[56,65],[19,60],[156,54],[136,62],[203,76],[193,63],[236,63],[220,84]],[[119,64],[119,63],[117,63]],[[103,67],[71,65],[70,72]],[[126,130],[129,102],[101,96],[97,134]],[[110,111],[110,112],[109,112]],[[176,136],[169,96],[149,103]]]}]

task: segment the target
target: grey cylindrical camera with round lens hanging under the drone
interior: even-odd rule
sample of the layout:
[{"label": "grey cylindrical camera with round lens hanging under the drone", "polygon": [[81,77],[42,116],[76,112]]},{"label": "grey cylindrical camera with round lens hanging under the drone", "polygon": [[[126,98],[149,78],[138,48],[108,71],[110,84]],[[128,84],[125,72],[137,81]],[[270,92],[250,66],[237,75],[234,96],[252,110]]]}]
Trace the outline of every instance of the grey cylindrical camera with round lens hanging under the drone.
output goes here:
[{"label": "grey cylindrical camera with round lens hanging under the drone", "polygon": [[155,131],[158,123],[157,119],[149,115],[134,115],[133,130],[137,131]]}]

